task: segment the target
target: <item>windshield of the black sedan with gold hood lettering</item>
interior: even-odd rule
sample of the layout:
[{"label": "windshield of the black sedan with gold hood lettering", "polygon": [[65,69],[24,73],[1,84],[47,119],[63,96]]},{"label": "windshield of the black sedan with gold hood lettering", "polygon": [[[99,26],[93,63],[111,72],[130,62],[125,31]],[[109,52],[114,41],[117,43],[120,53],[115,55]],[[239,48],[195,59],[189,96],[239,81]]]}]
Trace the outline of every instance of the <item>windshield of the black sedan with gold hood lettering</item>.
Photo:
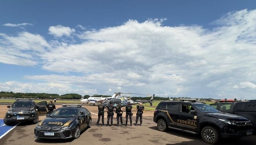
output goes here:
[{"label": "windshield of the black sedan with gold hood lettering", "polygon": [[62,107],[54,111],[50,117],[54,118],[76,118],[78,108]]}]

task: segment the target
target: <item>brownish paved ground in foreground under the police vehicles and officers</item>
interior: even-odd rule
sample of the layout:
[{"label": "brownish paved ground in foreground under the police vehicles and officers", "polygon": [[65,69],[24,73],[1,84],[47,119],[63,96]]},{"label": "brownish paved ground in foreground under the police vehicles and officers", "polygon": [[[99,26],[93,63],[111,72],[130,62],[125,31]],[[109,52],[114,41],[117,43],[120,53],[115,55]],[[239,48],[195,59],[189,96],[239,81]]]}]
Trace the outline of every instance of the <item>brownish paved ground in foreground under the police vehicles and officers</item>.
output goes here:
[{"label": "brownish paved ground in foreground under the police vehicles and officers", "polygon": [[[59,107],[59,106],[58,106]],[[204,145],[206,144],[197,134],[189,134],[186,132],[169,129],[168,132],[160,132],[157,130],[156,123],[153,122],[153,111],[144,112],[143,126],[128,126],[128,127],[102,127],[96,126],[97,107],[85,106],[92,112],[92,127],[85,130],[76,140],[54,140],[54,139],[36,139],[34,138],[34,128],[36,125],[29,123],[20,123],[2,139],[1,145],[40,145],[40,144],[174,144],[174,145]],[[0,112],[1,113],[1,112]],[[5,113],[5,112],[4,112]],[[2,113],[1,113],[2,114]],[[44,119],[41,116],[40,119]],[[106,115],[105,115],[106,117]],[[125,122],[125,119],[123,119]],[[105,118],[105,123],[107,119]],[[133,123],[135,118],[133,117]],[[114,118],[114,125],[116,118]],[[238,141],[234,139],[226,139],[220,142],[221,145],[228,144],[248,144],[256,145],[256,136],[244,137]]]}]

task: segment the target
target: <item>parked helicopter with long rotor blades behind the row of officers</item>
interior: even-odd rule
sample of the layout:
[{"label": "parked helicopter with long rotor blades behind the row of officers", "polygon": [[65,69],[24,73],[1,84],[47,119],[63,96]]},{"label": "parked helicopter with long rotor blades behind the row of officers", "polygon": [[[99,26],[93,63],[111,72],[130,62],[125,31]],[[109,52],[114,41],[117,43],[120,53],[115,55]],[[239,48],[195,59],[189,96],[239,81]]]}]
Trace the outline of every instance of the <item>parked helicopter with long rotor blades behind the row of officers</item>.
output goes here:
[{"label": "parked helicopter with long rotor blades behind the row of officers", "polygon": [[[148,97],[151,97],[150,100],[131,100],[131,98],[128,98],[126,96],[123,96],[121,94],[137,94],[137,93],[114,93],[114,95],[111,98],[106,98],[105,100],[97,101],[95,104],[100,104],[102,102],[103,106],[108,106],[109,102],[112,102],[112,105],[116,107],[119,103],[122,105],[122,107],[126,106],[128,102],[131,103],[131,105],[140,104],[141,103],[149,103],[150,106],[152,106],[153,99],[155,97],[155,94],[151,97],[150,95],[146,95]],[[145,94],[137,94],[137,95],[145,95]]]}]

